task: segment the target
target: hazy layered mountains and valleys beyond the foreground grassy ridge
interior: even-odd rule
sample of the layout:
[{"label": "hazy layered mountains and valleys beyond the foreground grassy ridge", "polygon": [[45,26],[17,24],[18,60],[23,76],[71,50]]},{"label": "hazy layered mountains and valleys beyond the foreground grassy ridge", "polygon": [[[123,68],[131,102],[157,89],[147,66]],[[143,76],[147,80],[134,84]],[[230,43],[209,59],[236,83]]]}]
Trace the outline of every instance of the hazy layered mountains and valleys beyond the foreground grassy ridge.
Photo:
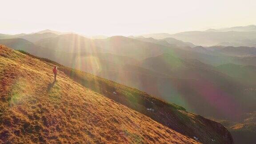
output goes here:
[{"label": "hazy layered mountains and valleys beyond the foreground grassy ridge", "polygon": [[[250,39],[254,36],[251,31],[183,32],[170,37],[151,34],[94,40],[74,33],[42,33],[20,36],[23,38],[9,36],[0,44],[137,88],[221,124],[228,121],[230,125],[225,126],[232,135],[240,135],[235,142],[243,141],[247,135],[248,141],[254,142],[256,129],[242,117],[256,110],[256,48],[200,46],[204,40],[239,40],[243,36],[240,34]],[[191,43],[196,37],[200,42]]]}]

